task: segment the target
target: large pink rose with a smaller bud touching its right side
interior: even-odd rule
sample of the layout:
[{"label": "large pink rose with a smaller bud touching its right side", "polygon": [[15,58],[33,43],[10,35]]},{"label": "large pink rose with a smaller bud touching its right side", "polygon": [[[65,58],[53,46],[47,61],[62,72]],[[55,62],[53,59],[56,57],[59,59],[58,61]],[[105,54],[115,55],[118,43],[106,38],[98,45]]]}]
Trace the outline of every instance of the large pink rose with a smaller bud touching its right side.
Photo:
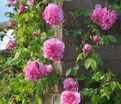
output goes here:
[{"label": "large pink rose with a smaller bud touching its right side", "polygon": [[28,61],[27,65],[24,69],[25,77],[27,80],[31,80],[36,82],[41,77],[48,75],[52,72],[52,66],[51,65],[44,65],[43,63],[40,63],[39,61]]}]

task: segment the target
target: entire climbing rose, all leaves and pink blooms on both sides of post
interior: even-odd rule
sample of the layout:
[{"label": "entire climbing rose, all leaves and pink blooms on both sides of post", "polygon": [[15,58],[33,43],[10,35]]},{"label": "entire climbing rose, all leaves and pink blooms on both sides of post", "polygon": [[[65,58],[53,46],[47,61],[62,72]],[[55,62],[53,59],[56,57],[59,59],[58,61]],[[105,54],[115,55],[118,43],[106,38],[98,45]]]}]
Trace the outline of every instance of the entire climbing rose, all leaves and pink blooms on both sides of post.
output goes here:
[{"label": "entire climbing rose, all leaves and pink blooms on both sides of post", "polygon": [[[88,15],[85,24],[89,31],[79,35],[82,40],[80,54],[75,67],[67,70],[66,79],[62,81],[55,63],[63,59],[66,47],[56,38],[56,33],[66,19],[58,0],[51,3],[47,0],[7,1],[14,12],[6,13],[11,19],[1,31],[5,35],[13,29],[14,39],[10,38],[1,51],[0,104],[46,104],[46,94],[51,87],[60,86],[60,82],[62,92],[57,102],[59,104],[121,103],[120,82],[111,71],[103,72],[100,68],[102,59],[95,51],[95,48],[116,42],[113,35],[103,33],[113,28],[118,19],[119,11],[112,10],[112,2],[109,2],[112,5],[110,9],[96,4],[89,13],[81,7],[78,9],[80,12],[75,12]],[[79,72],[81,62],[88,69],[85,73]]]}]

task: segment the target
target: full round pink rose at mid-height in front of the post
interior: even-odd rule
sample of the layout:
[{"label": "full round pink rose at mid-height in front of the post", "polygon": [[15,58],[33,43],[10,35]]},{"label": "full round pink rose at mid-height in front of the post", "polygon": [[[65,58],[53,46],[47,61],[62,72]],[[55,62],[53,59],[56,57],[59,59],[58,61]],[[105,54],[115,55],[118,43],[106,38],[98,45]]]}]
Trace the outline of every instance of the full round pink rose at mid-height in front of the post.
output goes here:
[{"label": "full round pink rose at mid-height in front of the post", "polygon": [[56,38],[51,38],[43,43],[43,56],[52,61],[59,61],[63,58],[65,45]]}]

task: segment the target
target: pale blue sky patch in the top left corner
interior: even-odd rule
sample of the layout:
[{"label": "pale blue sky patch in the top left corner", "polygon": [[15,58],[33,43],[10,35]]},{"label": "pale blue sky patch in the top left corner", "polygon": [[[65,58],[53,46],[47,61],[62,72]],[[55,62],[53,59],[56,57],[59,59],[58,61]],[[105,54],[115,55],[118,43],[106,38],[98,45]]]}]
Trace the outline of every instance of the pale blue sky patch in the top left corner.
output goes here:
[{"label": "pale blue sky patch in the top left corner", "polygon": [[5,16],[5,12],[12,11],[12,9],[7,7],[6,4],[7,0],[0,0],[0,23],[8,20]]}]

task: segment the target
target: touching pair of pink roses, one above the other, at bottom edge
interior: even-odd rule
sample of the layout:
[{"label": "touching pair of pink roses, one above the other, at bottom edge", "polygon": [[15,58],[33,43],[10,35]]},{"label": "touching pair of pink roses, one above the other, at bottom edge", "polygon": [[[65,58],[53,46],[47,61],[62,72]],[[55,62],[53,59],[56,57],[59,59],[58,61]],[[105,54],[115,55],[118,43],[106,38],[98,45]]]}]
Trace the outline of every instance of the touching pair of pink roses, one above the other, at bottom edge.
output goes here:
[{"label": "touching pair of pink roses, one above the other, at bottom edge", "polygon": [[67,78],[63,82],[64,91],[61,93],[61,104],[79,104],[80,93],[78,92],[78,84],[73,78]]}]

